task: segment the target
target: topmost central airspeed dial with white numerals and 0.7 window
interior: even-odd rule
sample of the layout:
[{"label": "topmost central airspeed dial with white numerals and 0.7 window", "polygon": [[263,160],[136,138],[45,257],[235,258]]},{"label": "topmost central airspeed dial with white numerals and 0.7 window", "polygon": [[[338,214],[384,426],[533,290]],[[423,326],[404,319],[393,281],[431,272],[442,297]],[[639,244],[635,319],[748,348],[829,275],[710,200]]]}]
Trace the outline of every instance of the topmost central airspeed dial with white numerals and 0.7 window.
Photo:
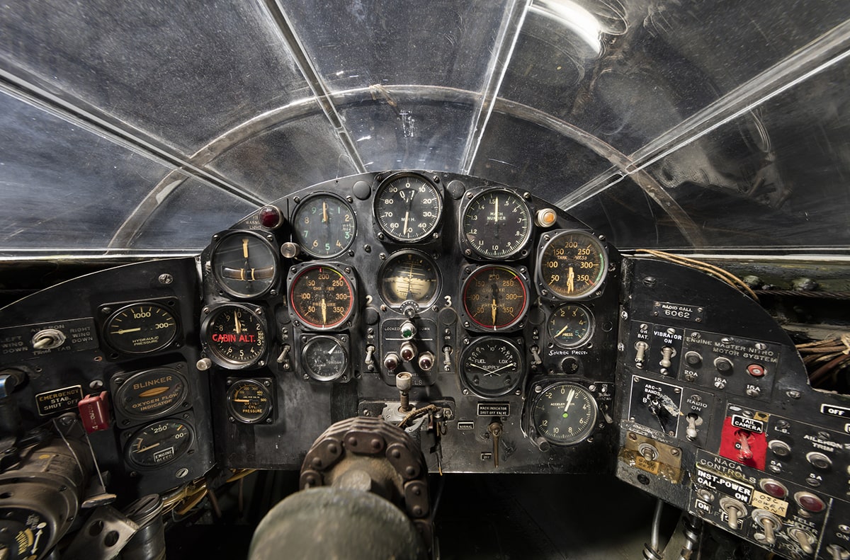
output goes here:
[{"label": "topmost central airspeed dial with white numerals and 0.7 window", "polygon": [[375,193],[375,219],[396,241],[425,239],[437,229],[442,213],[437,187],[418,175],[388,178]]}]

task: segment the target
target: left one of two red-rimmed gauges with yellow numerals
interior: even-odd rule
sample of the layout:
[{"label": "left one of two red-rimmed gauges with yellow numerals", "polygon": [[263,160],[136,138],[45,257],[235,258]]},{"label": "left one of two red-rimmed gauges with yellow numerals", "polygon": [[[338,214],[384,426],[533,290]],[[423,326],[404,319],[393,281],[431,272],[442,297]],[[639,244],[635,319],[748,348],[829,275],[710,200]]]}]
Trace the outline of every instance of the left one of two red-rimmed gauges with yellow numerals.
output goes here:
[{"label": "left one of two red-rimmed gauges with yellow numerals", "polygon": [[312,265],[292,280],[289,303],[304,325],[320,331],[333,329],[354,313],[354,287],[334,267]]}]

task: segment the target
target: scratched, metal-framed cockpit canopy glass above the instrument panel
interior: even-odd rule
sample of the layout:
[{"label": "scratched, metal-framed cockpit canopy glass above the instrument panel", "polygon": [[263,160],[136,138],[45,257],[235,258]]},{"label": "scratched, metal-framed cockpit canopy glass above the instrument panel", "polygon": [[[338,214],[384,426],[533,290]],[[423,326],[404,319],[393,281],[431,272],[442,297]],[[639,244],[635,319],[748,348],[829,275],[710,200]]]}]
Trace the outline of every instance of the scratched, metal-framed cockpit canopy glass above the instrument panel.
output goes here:
[{"label": "scratched, metal-framed cockpit canopy glass above the instrument panel", "polygon": [[621,248],[850,249],[850,3],[0,8],[0,253],[197,252],[379,169],[559,201]]}]

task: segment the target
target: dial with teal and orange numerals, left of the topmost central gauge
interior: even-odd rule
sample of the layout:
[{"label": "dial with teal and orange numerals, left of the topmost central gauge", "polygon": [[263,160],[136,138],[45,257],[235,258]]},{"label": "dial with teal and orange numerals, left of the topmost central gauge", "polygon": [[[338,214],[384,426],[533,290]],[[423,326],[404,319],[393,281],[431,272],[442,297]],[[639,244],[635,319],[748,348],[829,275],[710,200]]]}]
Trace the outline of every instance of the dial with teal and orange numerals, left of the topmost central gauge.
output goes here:
[{"label": "dial with teal and orange numerals, left of the topmost central gauge", "polygon": [[305,198],[292,215],[292,235],[313,257],[336,257],[354,243],[357,223],[348,203],[334,195]]}]

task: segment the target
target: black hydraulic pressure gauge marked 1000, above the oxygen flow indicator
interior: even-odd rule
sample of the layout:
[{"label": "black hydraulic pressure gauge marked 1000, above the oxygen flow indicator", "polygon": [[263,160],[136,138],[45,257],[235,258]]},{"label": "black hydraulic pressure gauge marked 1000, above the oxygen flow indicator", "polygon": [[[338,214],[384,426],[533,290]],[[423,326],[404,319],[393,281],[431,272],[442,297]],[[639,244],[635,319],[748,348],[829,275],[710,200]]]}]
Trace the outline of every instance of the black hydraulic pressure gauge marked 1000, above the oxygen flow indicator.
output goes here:
[{"label": "black hydraulic pressure gauge marked 1000, above the oxygen flow indicator", "polygon": [[104,337],[123,354],[148,354],[174,342],[177,320],[159,303],[133,303],[110,315],[104,325]]}]

